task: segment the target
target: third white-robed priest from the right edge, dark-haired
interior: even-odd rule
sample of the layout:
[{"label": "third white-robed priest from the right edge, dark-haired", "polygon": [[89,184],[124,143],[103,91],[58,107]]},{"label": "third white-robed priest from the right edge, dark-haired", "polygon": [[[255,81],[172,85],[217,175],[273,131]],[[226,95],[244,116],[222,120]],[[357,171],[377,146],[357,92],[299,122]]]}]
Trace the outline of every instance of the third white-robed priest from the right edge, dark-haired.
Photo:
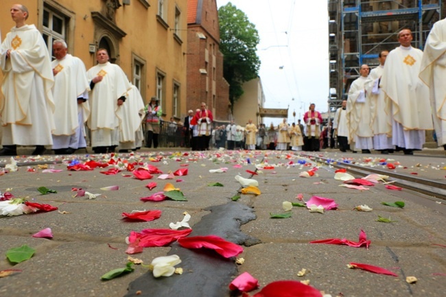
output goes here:
[{"label": "third white-robed priest from the right edge, dark-haired", "polygon": [[381,151],[382,154],[388,154],[389,150],[392,152],[395,148],[395,146],[392,145],[390,115],[384,111],[386,110],[384,92],[381,90],[381,86],[379,86],[387,56],[388,51],[386,50],[379,53],[379,66],[370,71],[366,82],[367,96],[371,102],[373,147],[375,147],[375,150]]}]

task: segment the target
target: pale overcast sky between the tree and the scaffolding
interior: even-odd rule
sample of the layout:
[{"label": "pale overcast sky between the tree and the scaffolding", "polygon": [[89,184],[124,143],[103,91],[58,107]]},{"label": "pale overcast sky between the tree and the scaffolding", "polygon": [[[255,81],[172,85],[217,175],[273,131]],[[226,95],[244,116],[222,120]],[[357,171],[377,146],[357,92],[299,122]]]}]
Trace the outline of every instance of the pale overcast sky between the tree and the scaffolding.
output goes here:
[{"label": "pale overcast sky between the tree and the scaffolding", "polygon": [[[255,25],[266,108],[289,108],[288,121],[303,117],[309,103],[328,110],[327,0],[217,0],[231,2]],[[235,105],[237,106],[237,105]],[[265,119],[277,124],[281,119]]]}]

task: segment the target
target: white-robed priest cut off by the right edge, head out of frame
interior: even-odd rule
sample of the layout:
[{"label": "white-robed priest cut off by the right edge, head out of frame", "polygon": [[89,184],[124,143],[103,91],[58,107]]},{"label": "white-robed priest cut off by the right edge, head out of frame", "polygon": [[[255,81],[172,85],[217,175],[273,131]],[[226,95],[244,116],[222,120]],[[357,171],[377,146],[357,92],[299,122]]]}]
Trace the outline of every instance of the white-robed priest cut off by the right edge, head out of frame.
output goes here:
[{"label": "white-robed priest cut off by the right edge, head out of frame", "polygon": [[430,88],[436,139],[446,150],[446,19],[427,36],[419,78]]}]

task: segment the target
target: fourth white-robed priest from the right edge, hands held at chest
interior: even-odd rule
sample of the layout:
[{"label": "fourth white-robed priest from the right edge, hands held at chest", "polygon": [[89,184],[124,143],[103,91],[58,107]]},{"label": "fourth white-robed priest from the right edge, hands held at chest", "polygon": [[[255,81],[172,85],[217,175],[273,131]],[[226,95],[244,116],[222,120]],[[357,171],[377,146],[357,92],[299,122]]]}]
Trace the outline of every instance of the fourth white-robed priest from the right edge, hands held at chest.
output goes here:
[{"label": "fourth white-robed priest from the right edge, hands held at chest", "polygon": [[369,68],[361,65],[360,77],[351,83],[347,98],[347,127],[350,143],[355,143],[353,150],[362,150],[370,154],[373,149],[373,130],[371,127],[371,100],[366,94],[365,84]]}]

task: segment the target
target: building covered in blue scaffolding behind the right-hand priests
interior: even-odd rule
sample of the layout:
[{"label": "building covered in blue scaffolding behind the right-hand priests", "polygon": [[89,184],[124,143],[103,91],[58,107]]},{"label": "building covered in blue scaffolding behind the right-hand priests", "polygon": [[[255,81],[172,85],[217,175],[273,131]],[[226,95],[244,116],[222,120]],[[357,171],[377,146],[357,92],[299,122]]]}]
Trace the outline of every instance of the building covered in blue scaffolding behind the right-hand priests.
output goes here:
[{"label": "building covered in blue scaffolding behind the right-hand priests", "polygon": [[443,1],[329,0],[329,112],[347,99],[362,64],[377,67],[379,52],[399,46],[401,29],[411,29],[412,46],[423,49],[432,25],[445,13]]}]

